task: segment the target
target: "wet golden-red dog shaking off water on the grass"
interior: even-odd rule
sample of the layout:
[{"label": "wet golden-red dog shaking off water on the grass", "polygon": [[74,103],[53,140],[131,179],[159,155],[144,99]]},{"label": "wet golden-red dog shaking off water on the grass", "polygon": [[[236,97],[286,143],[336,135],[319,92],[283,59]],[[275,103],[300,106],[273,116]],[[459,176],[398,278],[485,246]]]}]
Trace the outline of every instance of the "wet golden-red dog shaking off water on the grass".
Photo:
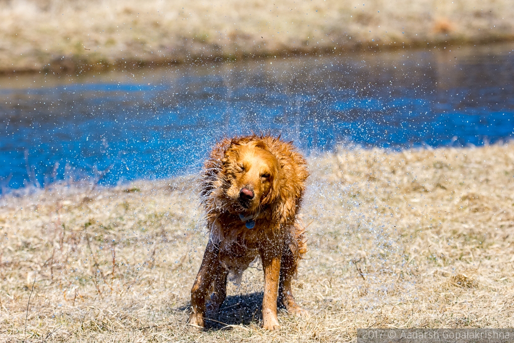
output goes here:
[{"label": "wet golden-red dog shaking off water on the grass", "polygon": [[210,236],[191,288],[192,326],[205,326],[206,311],[217,312],[225,300],[229,273],[241,276],[256,258],[264,269],[263,328],[279,327],[278,300],[289,313],[307,314],[291,279],[306,252],[298,211],[308,175],[305,158],[280,137],[253,134],[215,145],[201,178]]}]

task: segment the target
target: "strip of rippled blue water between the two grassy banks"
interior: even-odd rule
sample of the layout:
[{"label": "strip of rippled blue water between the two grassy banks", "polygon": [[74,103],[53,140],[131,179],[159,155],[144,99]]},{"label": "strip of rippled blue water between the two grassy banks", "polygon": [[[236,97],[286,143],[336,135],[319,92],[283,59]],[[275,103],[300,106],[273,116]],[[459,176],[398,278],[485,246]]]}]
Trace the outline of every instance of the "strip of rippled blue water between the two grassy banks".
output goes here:
[{"label": "strip of rippled blue water between the two grassy banks", "polygon": [[514,136],[514,46],[354,52],[0,78],[0,186],[193,173],[223,135],[307,154]]}]

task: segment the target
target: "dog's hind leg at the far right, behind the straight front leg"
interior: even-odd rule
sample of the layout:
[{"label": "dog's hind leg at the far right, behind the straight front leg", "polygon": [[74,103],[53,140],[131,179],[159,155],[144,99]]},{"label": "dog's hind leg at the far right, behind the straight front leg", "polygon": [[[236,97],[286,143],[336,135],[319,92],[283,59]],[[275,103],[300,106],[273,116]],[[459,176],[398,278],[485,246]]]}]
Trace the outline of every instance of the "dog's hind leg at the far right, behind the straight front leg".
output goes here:
[{"label": "dog's hind leg at the far right, behind the straight front leg", "polygon": [[282,261],[280,263],[279,299],[284,304],[287,312],[298,316],[304,316],[308,313],[296,303],[291,290],[291,279],[296,274],[297,262],[298,261],[292,254],[291,249],[288,246],[285,246],[284,253],[282,254]]}]

